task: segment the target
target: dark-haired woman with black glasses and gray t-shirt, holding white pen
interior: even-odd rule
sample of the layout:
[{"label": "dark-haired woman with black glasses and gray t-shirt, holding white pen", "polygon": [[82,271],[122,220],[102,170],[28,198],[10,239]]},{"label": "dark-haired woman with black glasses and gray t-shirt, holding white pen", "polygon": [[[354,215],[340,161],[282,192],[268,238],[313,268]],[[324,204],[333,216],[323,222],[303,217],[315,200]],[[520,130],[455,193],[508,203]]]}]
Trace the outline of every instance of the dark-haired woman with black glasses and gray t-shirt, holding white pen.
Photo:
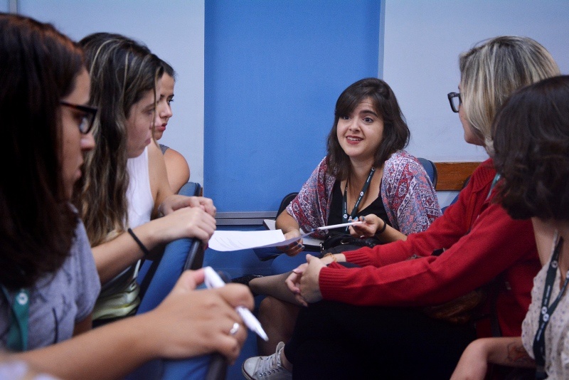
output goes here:
[{"label": "dark-haired woman with black glasses and gray t-shirt, holding white pen", "polygon": [[196,357],[184,363],[188,378],[202,378],[204,354],[234,361],[245,341],[235,307],[253,301],[242,285],[196,291],[203,270],[188,271],[156,309],[90,330],[100,282],[70,205],[83,155],[95,145],[89,104],[80,46],[53,26],[0,14],[0,154],[10,163],[0,168],[0,378],[31,368],[61,379],[123,379],[145,361],[188,357]]}]

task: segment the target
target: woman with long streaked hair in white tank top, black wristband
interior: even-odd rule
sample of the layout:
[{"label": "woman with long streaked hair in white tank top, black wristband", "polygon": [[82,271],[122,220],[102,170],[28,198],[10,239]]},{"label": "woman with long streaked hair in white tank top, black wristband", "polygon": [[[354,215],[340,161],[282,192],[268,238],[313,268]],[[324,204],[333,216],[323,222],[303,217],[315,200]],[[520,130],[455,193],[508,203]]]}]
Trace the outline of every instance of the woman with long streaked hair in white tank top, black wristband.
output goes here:
[{"label": "woman with long streaked hair in white tank top, black wristband", "polygon": [[177,238],[206,244],[216,229],[216,209],[211,199],[173,194],[164,157],[152,142],[151,132],[161,123],[161,60],[112,33],[94,33],[80,44],[99,113],[97,144],[85,157],[76,204],[101,278],[93,313],[100,324],[136,311],[140,259]]}]

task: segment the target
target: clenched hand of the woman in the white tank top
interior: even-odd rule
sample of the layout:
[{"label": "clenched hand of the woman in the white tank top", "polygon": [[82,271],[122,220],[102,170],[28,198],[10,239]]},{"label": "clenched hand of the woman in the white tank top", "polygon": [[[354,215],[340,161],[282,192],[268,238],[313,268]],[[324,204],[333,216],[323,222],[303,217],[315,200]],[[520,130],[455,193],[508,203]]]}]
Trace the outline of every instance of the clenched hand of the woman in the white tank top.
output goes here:
[{"label": "clenched hand of the woman in the white tank top", "polygon": [[200,207],[184,207],[151,221],[153,233],[165,243],[179,238],[198,238],[207,245],[216,231],[216,219]]}]

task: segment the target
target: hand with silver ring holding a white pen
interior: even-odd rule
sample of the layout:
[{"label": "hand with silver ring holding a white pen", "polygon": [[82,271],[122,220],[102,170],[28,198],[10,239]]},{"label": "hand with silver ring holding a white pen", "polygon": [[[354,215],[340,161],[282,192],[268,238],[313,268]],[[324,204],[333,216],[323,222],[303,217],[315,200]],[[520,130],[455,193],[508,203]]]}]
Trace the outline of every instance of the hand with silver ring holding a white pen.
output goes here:
[{"label": "hand with silver ring holding a white pen", "polygon": [[[203,270],[186,271],[155,310],[140,316],[156,357],[181,359],[220,352],[232,364],[238,358],[247,327],[235,307],[252,310],[251,292],[240,284],[195,290],[203,278]],[[238,328],[232,334],[235,323]]]}]

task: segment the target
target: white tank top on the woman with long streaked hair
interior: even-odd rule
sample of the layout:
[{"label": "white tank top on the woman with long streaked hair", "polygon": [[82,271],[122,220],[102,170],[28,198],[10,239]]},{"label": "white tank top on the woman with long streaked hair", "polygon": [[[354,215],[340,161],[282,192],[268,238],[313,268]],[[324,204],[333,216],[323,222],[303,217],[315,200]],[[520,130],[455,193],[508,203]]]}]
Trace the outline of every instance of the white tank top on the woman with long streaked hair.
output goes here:
[{"label": "white tank top on the woman with long streaked hair", "polygon": [[135,228],[150,221],[154,209],[148,172],[148,147],[139,157],[127,159],[127,171],[130,177],[127,189],[128,227]]}]

